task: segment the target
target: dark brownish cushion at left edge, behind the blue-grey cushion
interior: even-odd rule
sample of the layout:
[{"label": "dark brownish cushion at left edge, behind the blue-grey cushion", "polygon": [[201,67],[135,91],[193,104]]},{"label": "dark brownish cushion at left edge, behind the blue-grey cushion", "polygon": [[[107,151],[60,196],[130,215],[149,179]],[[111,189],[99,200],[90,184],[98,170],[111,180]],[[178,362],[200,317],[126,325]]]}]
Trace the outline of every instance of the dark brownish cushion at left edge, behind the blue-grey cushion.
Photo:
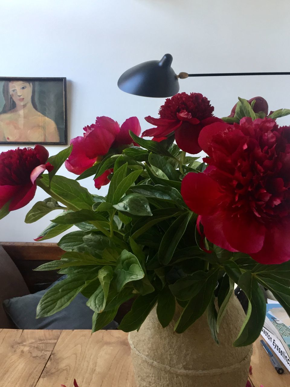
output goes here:
[{"label": "dark brownish cushion at left edge, behind the blue-grey cushion", "polygon": [[20,271],[0,245],[0,329],[15,328],[2,307],[2,301],[11,297],[24,296],[29,290]]}]

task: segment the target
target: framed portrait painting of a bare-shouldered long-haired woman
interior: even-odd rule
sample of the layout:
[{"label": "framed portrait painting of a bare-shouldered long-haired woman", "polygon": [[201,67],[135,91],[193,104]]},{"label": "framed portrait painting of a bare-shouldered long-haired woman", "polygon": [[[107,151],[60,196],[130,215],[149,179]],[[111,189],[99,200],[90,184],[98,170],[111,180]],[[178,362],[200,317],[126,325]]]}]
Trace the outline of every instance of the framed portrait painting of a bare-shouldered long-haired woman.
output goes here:
[{"label": "framed portrait painting of a bare-shouldered long-haired woman", "polygon": [[0,77],[0,144],[67,144],[67,79]]}]

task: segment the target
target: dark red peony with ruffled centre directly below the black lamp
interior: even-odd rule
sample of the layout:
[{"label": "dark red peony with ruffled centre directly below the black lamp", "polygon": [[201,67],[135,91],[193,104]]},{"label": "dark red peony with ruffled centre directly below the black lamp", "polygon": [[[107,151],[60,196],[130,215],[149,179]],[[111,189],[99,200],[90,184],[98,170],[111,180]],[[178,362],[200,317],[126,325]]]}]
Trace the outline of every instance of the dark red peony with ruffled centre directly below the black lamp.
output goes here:
[{"label": "dark red peony with ruffled centre directly below the black lamp", "polygon": [[199,153],[201,147],[198,145],[198,136],[201,129],[213,122],[222,122],[220,118],[213,117],[213,110],[210,101],[200,93],[176,94],[167,98],[160,107],[160,118],[145,117],[147,122],[157,128],[145,130],[142,136],[161,141],[174,132],[180,149],[191,154]]}]

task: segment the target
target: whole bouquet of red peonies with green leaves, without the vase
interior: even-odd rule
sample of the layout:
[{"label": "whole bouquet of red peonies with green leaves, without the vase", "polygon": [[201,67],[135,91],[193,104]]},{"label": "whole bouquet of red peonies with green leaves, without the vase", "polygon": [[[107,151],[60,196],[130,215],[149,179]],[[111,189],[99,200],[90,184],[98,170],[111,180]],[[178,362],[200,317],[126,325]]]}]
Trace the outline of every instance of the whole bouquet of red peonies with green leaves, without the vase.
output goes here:
[{"label": "whole bouquet of red peonies with green leaves, without the vase", "polygon": [[[63,212],[36,238],[67,231],[60,260],[38,267],[67,278],[49,289],[37,317],[65,308],[81,292],[94,311],[93,332],[114,319],[134,298],[119,329],[139,329],[157,304],[160,324],[172,320],[184,332],[203,313],[213,338],[238,284],[249,308],[234,346],[251,344],[264,324],[261,286],[271,290],[290,314],[290,127],[268,113],[257,97],[239,98],[230,116],[213,116],[199,93],[166,99],[154,128],[143,132],[136,117],[121,127],[97,117],[48,158],[41,145],[0,154],[0,216],[31,201],[37,187],[48,198],[37,202],[26,223],[57,209]],[[203,162],[196,154],[203,150]],[[57,175],[65,163],[75,180]],[[106,197],[80,185],[109,184]],[[217,304],[215,298],[217,297]]]}]

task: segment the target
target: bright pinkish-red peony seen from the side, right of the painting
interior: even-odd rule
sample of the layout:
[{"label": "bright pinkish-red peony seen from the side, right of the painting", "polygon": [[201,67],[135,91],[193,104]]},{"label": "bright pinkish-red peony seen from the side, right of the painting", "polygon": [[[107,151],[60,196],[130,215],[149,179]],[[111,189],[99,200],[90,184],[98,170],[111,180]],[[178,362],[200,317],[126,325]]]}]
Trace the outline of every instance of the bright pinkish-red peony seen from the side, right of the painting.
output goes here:
[{"label": "bright pinkish-red peony seen from the side, right of the painting", "polygon": [[68,171],[80,175],[94,165],[97,159],[106,155],[110,148],[134,144],[129,130],[140,135],[141,127],[137,117],[128,118],[121,128],[118,122],[109,117],[97,117],[96,123],[84,128],[84,135],[75,137],[70,144],[72,153],[65,161]]}]

